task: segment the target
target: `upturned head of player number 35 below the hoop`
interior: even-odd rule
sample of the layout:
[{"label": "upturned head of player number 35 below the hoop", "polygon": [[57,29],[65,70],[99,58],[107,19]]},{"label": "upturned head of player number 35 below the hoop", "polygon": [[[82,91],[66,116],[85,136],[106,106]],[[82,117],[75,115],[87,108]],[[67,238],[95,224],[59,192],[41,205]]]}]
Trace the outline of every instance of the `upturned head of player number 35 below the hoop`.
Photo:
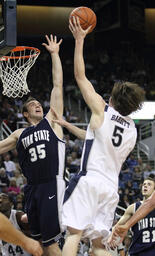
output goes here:
[{"label": "upturned head of player number 35 below the hoop", "polygon": [[40,121],[43,118],[43,108],[39,101],[29,97],[23,105],[22,114],[28,122],[32,120]]}]

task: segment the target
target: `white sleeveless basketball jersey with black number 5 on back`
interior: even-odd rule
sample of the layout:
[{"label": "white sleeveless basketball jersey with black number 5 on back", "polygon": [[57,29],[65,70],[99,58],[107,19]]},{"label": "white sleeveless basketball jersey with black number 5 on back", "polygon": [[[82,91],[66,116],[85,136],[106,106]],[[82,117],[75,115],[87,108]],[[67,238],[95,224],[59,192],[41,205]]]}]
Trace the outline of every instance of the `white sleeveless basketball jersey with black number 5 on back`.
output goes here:
[{"label": "white sleeveless basketball jersey with black number 5 on back", "polygon": [[118,187],[118,176],[123,162],[133,150],[137,130],[130,117],[121,116],[106,105],[104,121],[92,130],[88,125],[82,153],[81,171],[84,175],[100,175]]}]

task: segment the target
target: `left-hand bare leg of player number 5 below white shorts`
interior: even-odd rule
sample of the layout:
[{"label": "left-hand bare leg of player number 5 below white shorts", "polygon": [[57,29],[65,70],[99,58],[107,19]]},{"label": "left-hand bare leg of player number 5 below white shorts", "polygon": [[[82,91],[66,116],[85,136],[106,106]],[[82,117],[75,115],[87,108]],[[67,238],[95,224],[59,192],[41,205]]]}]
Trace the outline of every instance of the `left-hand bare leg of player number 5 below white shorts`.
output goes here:
[{"label": "left-hand bare leg of player number 5 below white shorts", "polygon": [[78,244],[81,240],[81,236],[83,231],[77,230],[71,227],[67,228],[69,231],[69,235],[66,238],[63,250],[62,250],[62,256],[76,256],[77,250],[78,250]]}]

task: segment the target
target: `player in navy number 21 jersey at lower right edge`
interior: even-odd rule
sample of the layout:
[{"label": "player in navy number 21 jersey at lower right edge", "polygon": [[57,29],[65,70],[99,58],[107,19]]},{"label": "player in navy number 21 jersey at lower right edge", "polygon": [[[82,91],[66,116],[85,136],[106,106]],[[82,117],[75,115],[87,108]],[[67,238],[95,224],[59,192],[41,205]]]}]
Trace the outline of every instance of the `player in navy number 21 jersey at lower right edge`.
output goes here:
[{"label": "player in navy number 21 jersey at lower right edge", "polygon": [[[155,191],[155,181],[148,177],[142,185],[143,201],[129,205],[124,215],[116,224],[125,224],[135,211],[147,200]],[[154,256],[155,255],[155,209],[151,211],[145,218],[136,223],[132,229],[132,242],[129,248],[130,256]]]}]

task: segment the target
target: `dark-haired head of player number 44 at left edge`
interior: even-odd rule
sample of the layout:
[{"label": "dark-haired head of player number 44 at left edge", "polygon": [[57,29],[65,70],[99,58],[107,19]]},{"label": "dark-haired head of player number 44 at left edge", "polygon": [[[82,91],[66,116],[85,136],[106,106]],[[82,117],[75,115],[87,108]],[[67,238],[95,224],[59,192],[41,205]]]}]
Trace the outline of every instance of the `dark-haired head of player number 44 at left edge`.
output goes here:
[{"label": "dark-haired head of player number 44 at left edge", "polygon": [[10,197],[5,193],[0,193],[0,212],[9,217],[12,205]]}]

